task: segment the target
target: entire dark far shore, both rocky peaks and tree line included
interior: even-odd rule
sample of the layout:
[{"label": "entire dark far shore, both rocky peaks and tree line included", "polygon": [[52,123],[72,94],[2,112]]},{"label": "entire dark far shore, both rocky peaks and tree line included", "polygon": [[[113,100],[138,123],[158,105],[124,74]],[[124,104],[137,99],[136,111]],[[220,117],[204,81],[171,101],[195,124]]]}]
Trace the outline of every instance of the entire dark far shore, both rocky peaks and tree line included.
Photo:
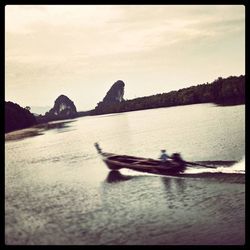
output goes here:
[{"label": "entire dark far shore, both rocky peaks and tree line included", "polygon": [[81,116],[120,113],[198,103],[237,105],[245,103],[245,76],[219,77],[212,83],[183,88],[157,95],[124,100],[125,83],[116,81],[97,106],[88,111],[77,111],[74,102],[60,95],[45,115],[34,115],[30,107],[22,108],[13,102],[5,102],[5,133],[28,128],[49,121],[73,119]]}]

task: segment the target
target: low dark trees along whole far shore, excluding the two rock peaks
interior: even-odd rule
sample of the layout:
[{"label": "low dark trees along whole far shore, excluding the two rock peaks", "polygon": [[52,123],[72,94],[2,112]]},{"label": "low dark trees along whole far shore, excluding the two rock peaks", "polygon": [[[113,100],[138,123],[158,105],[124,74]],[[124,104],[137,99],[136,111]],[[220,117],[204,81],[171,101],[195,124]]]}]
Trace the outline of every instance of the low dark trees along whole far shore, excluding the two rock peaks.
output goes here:
[{"label": "low dark trees along whole far shore, excluding the two rock peaks", "polygon": [[[234,105],[245,103],[245,76],[219,77],[212,83],[199,84],[178,91],[140,97],[121,102],[100,102],[95,109],[77,112],[74,117],[99,115],[108,113],[119,113],[160,107],[171,107],[178,105],[189,105],[196,103],[216,103],[219,105]],[[101,105],[100,105],[101,104]],[[27,128],[52,120],[74,118],[72,116],[38,116],[30,112],[30,107],[20,107],[16,103],[5,102],[5,133]]]}]

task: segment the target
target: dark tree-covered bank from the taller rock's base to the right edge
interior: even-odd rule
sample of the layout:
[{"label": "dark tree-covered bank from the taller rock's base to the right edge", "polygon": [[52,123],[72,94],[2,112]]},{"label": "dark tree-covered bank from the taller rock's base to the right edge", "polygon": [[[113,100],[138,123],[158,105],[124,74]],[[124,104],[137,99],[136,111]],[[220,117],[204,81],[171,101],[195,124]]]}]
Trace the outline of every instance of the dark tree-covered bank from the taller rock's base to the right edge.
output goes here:
[{"label": "dark tree-covered bank from the taller rock's base to the right edge", "polygon": [[120,103],[97,104],[91,114],[119,113],[196,103],[216,103],[219,105],[245,103],[245,76],[230,76],[225,79],[219,77],[212,83],[199,84],[178,91],[140,97]]}]

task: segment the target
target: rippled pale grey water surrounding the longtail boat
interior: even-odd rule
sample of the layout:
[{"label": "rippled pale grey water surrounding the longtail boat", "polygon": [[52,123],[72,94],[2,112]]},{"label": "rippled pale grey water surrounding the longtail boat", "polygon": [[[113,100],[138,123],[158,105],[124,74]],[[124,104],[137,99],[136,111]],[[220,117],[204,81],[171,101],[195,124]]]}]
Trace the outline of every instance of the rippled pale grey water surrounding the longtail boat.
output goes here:
[{"label": "rippled pale grey water surrounding the longtail boat", "polygon": [[244,182],[109,173],[95,142],[118,154],[236,160],[219,168],[233,176],[245,169],[245,105],[82,117],[6,142],[6,244],[244,244]]}]

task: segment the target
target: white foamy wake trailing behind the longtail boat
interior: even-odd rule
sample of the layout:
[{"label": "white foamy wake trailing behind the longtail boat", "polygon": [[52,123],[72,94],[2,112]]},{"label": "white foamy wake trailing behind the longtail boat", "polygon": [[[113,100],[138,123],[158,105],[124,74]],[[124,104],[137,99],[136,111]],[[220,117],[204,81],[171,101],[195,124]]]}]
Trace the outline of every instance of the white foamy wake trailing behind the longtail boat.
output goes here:
[{"label": "white foamy wake trailing behind the longtail boat", "polygon": [[245,156],[235,164],[228,166],[228,164],[214,164],[213,168],[206,168],[204,166],[190,166],[185,174],[200,174],[200,173],[226,173],[226,174],[245,174]]}]

